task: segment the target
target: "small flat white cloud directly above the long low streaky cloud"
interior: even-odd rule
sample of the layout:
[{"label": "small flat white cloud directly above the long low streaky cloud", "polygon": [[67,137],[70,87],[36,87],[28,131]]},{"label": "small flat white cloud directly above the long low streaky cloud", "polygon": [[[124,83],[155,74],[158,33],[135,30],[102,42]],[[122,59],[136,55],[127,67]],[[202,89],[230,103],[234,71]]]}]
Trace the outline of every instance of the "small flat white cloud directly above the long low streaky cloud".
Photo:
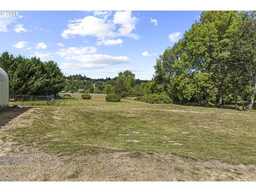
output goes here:
[{"label": "small flat white cloud directly above the long low streaky cloud", "polygon": [[92,54],[97,52],[97,49],[93,46],[86,47],[68,47],[68,49],[59,49],[55,54],[62,57],[70,57],[75,55],[84,55],[84,54]]}]

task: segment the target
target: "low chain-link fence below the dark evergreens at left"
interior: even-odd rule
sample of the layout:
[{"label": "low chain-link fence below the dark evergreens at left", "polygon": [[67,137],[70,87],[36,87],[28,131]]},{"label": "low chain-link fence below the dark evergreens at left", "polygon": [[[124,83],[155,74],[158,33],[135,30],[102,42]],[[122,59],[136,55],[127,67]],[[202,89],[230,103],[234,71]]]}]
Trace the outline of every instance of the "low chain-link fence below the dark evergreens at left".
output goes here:
[{"label": "low chain-link fence below the dark evergreens at left", "polygon": [[9,95],[9,105],[50,105],[55,98],[55,94],[51,95]]}]

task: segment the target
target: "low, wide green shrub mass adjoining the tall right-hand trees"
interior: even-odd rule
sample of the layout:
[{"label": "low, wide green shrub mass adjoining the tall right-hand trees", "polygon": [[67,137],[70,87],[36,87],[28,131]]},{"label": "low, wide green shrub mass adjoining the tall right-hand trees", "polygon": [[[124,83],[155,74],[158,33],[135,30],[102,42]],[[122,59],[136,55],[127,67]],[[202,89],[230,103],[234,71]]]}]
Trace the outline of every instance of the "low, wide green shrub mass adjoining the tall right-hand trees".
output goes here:
[{"label": "low, wide green shrub mass adjoining the tall right-hand trees", "polygon": [[142,102],[157,103],[157,104],[173,103],[173,101],[169,98],[169,96],[163,93],[148,94],[145,96],[137,97],[137,100]]}]

